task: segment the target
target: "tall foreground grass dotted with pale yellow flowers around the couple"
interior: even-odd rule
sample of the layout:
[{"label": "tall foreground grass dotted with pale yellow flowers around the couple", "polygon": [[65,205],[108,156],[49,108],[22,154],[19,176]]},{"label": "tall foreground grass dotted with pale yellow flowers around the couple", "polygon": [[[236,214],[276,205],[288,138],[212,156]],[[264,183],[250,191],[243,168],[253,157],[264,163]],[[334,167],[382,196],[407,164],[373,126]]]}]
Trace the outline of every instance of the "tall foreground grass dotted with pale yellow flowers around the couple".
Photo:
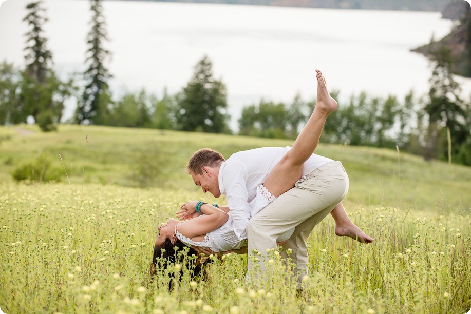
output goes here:
[{"label": "tall foreground grass dotted with pale yellow flowers around the couple", "polygon": [[[334,235],[329,217],[309,244],[311,276],[296,293],[271,252],[263,285],[245,284],[246,256],[213,258],[206,278],[148,276],[156,226],[200,194],[92,185],[0,185],[0,307],[5,312],[466,312],[469,215],[356,206],[372,245]],[[204,199],[208,202],[215,200]],[[347,203],[347,207],[353,204]],[[182,272],[168,291],[168,281]],[[41,310],[41,311],[42,311]]]}]

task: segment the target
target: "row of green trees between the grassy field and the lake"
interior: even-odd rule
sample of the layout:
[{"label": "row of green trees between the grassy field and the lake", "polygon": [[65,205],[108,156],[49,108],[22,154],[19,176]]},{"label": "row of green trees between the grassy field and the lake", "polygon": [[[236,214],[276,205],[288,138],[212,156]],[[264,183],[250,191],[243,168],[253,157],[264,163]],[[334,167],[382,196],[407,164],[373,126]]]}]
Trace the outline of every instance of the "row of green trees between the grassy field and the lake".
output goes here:
[{"label": "row of green trees between the grassy field and the lake", "polygon": [[[121,127],[145,127],[212,133],[232,133],[227,113],[227,89],[212,73],[212,62],[204,56],[186,86],[176,94],[157,97],[144,89],[112,97],[105,66],[110,52],[101,0],[90,0],[90,31],[84,73],[60,80],[52,69],[52,53],[42,31],[47,21],[42,1],[26,6],[24,21],[25,68],[0,64],[0,124],[17,124],[32,116],[43,131],[56,129],[64,102],[76,97],[77,109],[70,123]],[[471,25],[471,18],[462,23]],[[471,33],[471,32],[470,32]],[[471,39],[470,39],[471,42]],[[469,46],[471,51],[471,46]],[[451,69],[455,60],[449,48],[434,53],[430,90],[427,95],[411,91],[404,99],[395,96],[352,95],[348,101],[333,96],[339,109],[332,113],[322,141],[348,145],[397,148],[421,154],[426,160],[438,158],[471,165],[471,109],[461,99],[460,86]],[[242,109],[238,134],[268,138],[296,138],[309,119],[315,100],[296,95],[290,103],[260,100]]]}]

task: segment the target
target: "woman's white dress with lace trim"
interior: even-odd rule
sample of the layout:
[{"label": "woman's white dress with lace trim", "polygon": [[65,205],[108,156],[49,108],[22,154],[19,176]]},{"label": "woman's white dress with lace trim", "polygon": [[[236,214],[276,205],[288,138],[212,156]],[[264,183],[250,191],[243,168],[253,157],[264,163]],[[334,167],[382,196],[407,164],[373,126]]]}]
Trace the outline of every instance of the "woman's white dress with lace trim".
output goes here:
[{"label": "woman's white dress with lace trim", "polygon": [[[273,202],[276,199],[264,186],[263,184],[258,185],[257,187],[257,195],[252,202],[250,202],[250,206],[253,207],[252,209],[252,216],[258,213],[260,210],[265,208],[268,204]],[[175,234],[177,235],[178,240],[183,242],[186,245],[194,245],[199,247],[207,247],[213,252],[224,252],[229,251],[232,249],[239,249],[242,246],[247,246],[247,239],[239,240],[234,232],[235,226],[234,221],[231,217],[231,211],[229,211],[229,218],[228,221],[225,222],[219,228],[206,233],[204,236],[203,241],[195,242],[192,241],[190,238],[185,237],[183,234],[177,231],[177,226],[175,226]],[[181,222],[182,223],[182,222]],[[281,234],[278,239],[276,240],[277,243],[284,242],[291,237],[293,234],[294,228],[286,231],[285,233]]]}]

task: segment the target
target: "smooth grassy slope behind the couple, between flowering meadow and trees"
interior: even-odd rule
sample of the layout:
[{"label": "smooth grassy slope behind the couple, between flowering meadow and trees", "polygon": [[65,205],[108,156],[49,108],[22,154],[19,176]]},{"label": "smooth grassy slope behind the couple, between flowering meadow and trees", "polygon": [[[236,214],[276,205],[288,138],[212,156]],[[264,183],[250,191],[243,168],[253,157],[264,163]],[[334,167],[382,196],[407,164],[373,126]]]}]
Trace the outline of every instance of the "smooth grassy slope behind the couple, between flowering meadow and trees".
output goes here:
[{"label": "smooth grassy slope behind the couple, between flowering meadow and trees", "polygon": [[[228,158],[239,150],[292,145],[272,140],[153,129],[61,125],[42,133],[35,126],[0,128],[0,180],[12,182],[18,165],[46,156],[72,189],[83,183],[146,185],[197,191],[184,167],[191,154],[212,147]],[[469,210],[471,168],[424,162],[393,150],[321,144],[316,153],[340,160],[350,177],[347,200],[362,205]]]}]

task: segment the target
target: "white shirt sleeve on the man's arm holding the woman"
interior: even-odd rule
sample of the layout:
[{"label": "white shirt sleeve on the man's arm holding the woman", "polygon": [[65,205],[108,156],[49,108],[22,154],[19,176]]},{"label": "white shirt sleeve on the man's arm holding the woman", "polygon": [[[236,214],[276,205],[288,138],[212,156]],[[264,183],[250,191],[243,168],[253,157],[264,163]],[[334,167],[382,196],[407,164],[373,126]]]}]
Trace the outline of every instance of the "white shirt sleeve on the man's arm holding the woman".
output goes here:
[{"label": "white shirt sleeve on the man's arm holding the woman", "polygon": [[239,240],[247,238],[246,227],[250,219],[247,167],[240,161],[227,162],[222,173],[226,201],[231,210],[234,232]]}]

